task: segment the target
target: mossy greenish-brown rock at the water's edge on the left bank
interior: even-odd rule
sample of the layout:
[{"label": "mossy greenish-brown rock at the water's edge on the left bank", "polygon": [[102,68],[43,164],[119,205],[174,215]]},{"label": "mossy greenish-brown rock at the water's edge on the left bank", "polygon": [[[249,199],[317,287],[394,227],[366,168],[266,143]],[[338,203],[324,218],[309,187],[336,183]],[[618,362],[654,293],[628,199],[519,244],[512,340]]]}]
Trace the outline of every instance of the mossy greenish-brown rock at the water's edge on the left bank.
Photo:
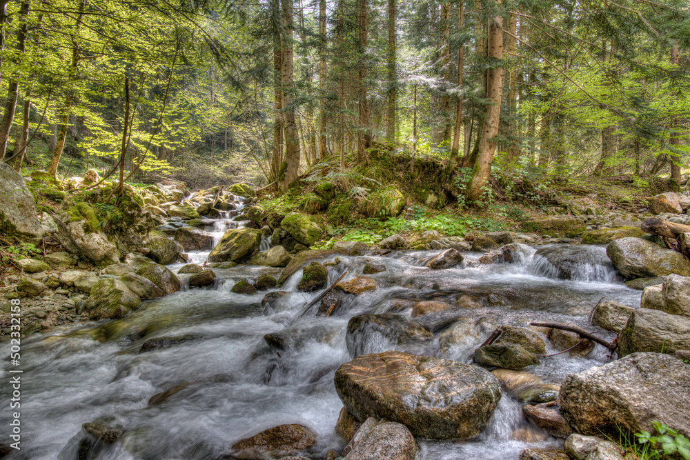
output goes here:
[{"label": "mossy greenish-brown rock at the water's edge on the left bank", "polygon": [[125,283],[115,278],[100,279],[91,288],[86,300],[89,319],[117,319],[130,309],[141,307],[141,299]]}]

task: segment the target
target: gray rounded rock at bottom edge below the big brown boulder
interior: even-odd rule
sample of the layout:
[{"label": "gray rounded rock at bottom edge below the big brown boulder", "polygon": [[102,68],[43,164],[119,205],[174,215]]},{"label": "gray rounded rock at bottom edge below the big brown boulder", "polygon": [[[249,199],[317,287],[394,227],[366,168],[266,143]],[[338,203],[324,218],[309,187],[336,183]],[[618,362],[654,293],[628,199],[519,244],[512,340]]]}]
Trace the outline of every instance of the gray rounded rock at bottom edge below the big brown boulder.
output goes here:
[{"label": "gray rounded rock at bottom edge below the big brown boulder", "polygon": [[400,423],[378,423],[360,439],[344,460],[414,460],[417,442],[408,428]]}]

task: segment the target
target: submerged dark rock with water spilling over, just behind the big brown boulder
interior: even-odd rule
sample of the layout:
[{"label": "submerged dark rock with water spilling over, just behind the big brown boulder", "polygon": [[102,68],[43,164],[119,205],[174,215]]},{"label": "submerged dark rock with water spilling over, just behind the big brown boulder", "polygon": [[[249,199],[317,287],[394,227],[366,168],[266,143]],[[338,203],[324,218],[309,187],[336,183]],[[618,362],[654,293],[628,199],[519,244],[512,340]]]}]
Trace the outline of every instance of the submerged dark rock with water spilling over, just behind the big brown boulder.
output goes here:
[{"label": "submerged dark rock with water spilling over, just behind the big brown boulder", "polygon": [[394,344],[426,342],[433,334],[424,326],[393,313],[359,314],[348,321],[345,342],[350,356],[368,352],[368,347],[380,341]]}]

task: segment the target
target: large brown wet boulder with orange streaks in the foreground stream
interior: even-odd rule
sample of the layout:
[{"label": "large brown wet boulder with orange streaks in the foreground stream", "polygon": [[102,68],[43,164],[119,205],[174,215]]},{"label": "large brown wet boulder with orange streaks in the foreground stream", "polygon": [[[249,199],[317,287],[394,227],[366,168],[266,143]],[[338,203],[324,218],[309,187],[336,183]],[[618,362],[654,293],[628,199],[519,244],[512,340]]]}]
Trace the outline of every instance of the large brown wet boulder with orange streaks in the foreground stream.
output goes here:
[{"label": "large brown wet boulder with orange streaks in the foreground stream", "polygon": [[495,377],[477,366],[395,351],[344,363],[335,389],[357,419],[397,421],[426,439],[475,436],[502,394]]}]

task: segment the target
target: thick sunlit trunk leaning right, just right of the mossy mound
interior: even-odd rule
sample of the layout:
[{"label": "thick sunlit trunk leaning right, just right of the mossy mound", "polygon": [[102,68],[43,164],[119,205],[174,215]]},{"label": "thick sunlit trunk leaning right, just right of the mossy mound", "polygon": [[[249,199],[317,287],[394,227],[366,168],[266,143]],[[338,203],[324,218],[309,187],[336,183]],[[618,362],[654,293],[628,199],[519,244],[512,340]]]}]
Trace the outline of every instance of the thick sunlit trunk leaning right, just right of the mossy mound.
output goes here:
[{"label": "thick sunlit trunk leaning right, just right of the mossy mound", "polygon": [[[497,0],[496,3],[501,3]],[[493,18],[489,28],[489,57],[502,61],[503,59],[503,17]],[[468,202],[482,200],[484,188],[489,183],[491,174],[491,162],[496,150],[495,137],[498,134],[498,124],[501,116],[501,93],[503,90],[503,66],[490,68],[486,72],[486,98],[489,105],[486,106],[484,126],[482,126],[482,140],[480,141],[477,160],[473,166],[472,177],[466,191]]]}]

